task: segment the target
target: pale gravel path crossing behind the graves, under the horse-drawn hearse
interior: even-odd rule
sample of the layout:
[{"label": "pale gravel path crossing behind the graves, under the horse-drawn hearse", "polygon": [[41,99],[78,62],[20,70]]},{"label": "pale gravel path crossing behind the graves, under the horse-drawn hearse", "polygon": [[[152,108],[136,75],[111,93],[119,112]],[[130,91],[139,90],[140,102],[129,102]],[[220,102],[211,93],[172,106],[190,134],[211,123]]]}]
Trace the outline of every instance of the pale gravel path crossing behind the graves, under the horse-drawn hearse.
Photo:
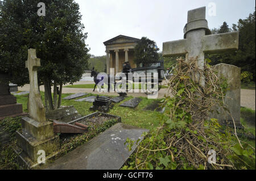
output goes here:
[{"label": "pale gravel path crossing behind the graves, under the horse-drawn hearse", "polygon": [[[92,84],[93,82],[90,81],[80,81],[74,83],[74,85],[77,84]],[[29,91],[30,90],[30,85],[24,85],[23,87],[18,88],[19,91]],[[40,86],[40,91],[44,91],[44,86]],[[160,89],[158,92],[158,98],[164,98],[164,94],[166,94],[167,89]],[[53,92],[53,87],[52,87],[52,92]],[[101,95],[114,95],[118,96],[116,92],[98,92],[94,91],[93,89],[82,89],[82,88],[68,88],[68,87],[63,87],[63,94],[68,94],[68,93],[80,93],[80,92],[87,92],[87,93],[92,93],[92,94],[101,94]],[[133,97],[147,97],[146,94],[143,92],[138,92],[138,93],[128,93],[128,96],[133,96]],[[255,110],[255,90],[249,90],[249,89],[241,89],[241,106],[242,107],[247,107],[250,108],[251,110]]]}]

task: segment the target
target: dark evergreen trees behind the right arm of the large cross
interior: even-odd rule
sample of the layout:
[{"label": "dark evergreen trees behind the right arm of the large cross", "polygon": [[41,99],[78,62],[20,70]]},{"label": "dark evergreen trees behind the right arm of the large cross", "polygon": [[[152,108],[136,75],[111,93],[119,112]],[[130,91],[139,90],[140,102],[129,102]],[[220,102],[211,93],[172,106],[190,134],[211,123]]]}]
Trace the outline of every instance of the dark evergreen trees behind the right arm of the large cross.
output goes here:
[{"label": "dark evergreen trees behind the right arm of the large cross", "polygon": [[[216,28],[215,28],[216,29]],[[238,24],[233,24],[232,29],[224,22],[218,33],[239,31],[239,45],[237,51],[205,56],[212,60],[211,65],[220,63],[232,64],[241,68],[241,72],[248,71],[253,74],[255,81],[255,10],[246,19],[239,19]],[[213,33],[216,30],[213,31]]]}]

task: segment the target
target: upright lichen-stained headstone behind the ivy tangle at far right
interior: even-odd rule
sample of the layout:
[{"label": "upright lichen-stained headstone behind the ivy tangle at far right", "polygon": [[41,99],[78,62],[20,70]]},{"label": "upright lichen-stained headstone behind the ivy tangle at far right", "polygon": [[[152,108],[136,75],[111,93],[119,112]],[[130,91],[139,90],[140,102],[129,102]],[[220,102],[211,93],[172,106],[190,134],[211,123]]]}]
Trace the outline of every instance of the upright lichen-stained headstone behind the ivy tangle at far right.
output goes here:
[{"label": "upright lichen-stained headstone behind the ivy tangle at far right", "polygon": [[[218,64],[213,66],[217,71],[218,78],[228,83],[224,103],[228,106],[230,114],[232,115],[236,127],[242,128],[240,122],[240,103],[241,103],[241,69],[234,65]],[[211,117],[218,119],[221,124],[228,124],[233,127],[233,119],[228,113],[221,108],[216,108],[219,113],[213,113]]]}]

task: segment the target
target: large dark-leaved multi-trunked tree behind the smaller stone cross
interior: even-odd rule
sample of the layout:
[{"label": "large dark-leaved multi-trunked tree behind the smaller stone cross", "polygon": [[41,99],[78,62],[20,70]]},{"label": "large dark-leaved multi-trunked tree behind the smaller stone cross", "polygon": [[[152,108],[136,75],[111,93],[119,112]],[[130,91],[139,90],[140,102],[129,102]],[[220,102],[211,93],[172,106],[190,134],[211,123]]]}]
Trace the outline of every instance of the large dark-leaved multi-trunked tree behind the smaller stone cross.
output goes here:
[{"label": "large dark-leaved multi-trunked tree behind the smaller stone cross", "polygon": [[[44,1],[46,16],[38,16],[39,2],[1,2],[0,41],[3,46],[0,68],[13,75],[27,73],[27,70],[24,71],[27,49],[35,48],[41,59],[39,85],[44,85],[46,108],[52,110],[60,107],[63,84],[80,80],[87,67],[89,49],[85,44],[87,33],[83,32],[85,27],[81,23],[79,5],[75,1]],[[16,65],[22,69],[14,68]],[[24,83],[20,81],[20,85]],[[57,86],[60,86],[59,98]]]}]

